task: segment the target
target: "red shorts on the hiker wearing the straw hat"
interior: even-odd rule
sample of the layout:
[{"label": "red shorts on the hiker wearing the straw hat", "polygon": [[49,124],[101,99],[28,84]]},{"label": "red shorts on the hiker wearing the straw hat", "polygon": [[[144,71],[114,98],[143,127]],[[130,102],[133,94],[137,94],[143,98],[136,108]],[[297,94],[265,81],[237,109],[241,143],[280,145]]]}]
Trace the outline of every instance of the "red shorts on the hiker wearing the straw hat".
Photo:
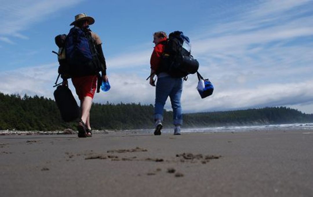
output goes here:
[{"label": "red shorts on the hiker wearing the straw hat", "polygon": [[97,75],[73,77],[72,82],[80,100],[86,96],[94,98],[97,88]]}]

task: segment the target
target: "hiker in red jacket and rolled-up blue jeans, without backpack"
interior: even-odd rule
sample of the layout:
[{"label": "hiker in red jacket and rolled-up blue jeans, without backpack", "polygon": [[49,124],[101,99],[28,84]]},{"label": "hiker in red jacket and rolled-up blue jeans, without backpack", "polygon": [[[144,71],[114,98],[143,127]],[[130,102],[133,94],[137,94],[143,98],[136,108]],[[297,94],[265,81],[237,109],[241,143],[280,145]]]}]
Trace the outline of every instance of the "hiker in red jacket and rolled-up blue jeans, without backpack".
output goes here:
[{"label": "hiker in red jacket and rolled-up blue jeans, without backpack", "polygon": [[[154,50],[151,55],[151,75],[150,84],[156,86],[156,99],[154,107],[155,131],[154,135],[161,135],[163,127],[163,109],[168,97],[171,99],[173,109],[174,135],[180,135],[180,125],[182,125],[182,78],[174,78],[167,72],[160,71],[161,58],[167,43],[167,34],[165,32],[156,32],[153,34]],[[154,76],[157,75],[155,84]]]}]

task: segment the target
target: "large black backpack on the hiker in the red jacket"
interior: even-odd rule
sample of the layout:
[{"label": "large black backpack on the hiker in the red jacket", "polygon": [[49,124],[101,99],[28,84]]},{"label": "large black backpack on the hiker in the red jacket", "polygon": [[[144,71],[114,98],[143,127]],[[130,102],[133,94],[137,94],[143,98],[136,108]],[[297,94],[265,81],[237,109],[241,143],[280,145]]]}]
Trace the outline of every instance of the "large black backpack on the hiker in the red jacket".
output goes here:
[{"label": "large black backpack on the hiker in the red jacket", "polygon": [[198,61],[191,55],[189,38],[180,31],[170,33],[156,73],[166,72],[172,77],[181,78],[196,73],[198,68]]}]

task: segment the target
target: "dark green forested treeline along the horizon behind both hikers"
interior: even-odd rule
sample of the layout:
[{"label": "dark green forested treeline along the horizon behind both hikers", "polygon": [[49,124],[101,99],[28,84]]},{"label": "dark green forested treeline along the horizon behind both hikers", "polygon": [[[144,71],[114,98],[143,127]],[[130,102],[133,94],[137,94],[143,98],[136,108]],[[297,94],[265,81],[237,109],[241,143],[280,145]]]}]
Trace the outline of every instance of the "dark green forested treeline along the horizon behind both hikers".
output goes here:
[{"label": "dark green forested treeline along the horizon behind both hikers", "polygon": [[[285,107],[194,113],[184,114],[183,117],[184,127],[313,122],[313,114]],[[93,129],[153,128],[153,105],[93,104],[90,122]],[[171,127],[171,123],[172,112],[164,111],[164,125]],[[53,131],[75,127],[76,122],[61,120],[59,109],[52,99],[0,93],[0,130]]]}]

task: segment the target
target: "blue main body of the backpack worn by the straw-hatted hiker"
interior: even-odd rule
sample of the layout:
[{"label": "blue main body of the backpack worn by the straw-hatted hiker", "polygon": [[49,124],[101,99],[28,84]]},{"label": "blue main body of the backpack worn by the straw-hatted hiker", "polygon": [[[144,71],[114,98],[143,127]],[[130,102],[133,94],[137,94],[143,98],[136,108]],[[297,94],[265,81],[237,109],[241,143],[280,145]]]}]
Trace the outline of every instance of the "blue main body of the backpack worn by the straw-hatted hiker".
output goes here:
[{"label": "blue main body of the backpack worn by the straw-hatted hiker", "polygon": [[89,31],[83,31],[78,27],[71,28],[64,49],[71,76],[86,76],[100,72],[97,50]]}]

